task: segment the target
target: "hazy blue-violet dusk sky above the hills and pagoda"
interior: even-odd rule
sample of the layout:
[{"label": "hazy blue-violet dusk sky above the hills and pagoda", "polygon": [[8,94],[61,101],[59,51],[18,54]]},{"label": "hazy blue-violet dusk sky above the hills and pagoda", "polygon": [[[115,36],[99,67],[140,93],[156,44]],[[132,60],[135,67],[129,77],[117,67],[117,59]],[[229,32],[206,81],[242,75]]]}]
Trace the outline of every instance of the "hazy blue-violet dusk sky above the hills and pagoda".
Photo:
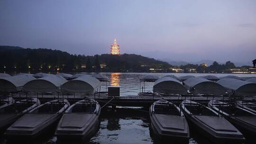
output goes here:
[{"label": "hazy blue-violet dusk sky above the hills and pagoda", "polygon": [[0,0],[0,45],[156,59],[256,59],[256,0]]}]

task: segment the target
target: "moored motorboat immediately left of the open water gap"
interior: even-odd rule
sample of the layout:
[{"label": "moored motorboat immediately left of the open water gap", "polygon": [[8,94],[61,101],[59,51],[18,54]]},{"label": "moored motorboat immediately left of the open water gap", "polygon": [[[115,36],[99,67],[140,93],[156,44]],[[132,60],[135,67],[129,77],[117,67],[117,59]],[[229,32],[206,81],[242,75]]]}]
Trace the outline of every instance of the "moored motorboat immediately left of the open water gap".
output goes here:
[{"label": "moored motorboat immediately left of the open water gap", "polygon": [[[94,100],[92,100],[95,102]],[[82,141],[90,139],[99,129],[99,116],[101,114],[101,108],[98,102],[95,102],[97,110],[92,113],[88,112],[73,112],[73,109],[77,104],[81,104],[88,101],[78,101],[73,104],[66,113],[63,115],[58,123],[55,131],[58,141],[74,140]],[[90,104],[90,103],[89,103]],[[79,108],[79,107],[78,107]]]}]

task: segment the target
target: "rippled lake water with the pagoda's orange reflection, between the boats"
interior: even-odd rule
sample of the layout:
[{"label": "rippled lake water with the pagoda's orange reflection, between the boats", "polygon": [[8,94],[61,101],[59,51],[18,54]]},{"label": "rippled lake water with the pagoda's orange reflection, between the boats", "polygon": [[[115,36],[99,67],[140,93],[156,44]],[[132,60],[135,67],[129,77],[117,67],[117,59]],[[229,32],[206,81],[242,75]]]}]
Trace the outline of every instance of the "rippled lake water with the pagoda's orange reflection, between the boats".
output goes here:
[{"label": "rippled lake water with the pagoda's orange reflection, between the boats", "polygon": [[[154,74],[159,77],[167,74],[175,76],[183,75],[208,75],[201,73],[102,73],[110,78],[108,85],[120,86],[121,96],[137,95],[139,92],[139,78],[146,74]],[[256,74],[213,74],[218,77],[226,75],[237,75],[241,77],[256,76]],[[146,82],[146,91],[152,91],[153,82]],[[106,88],[106,83],[102,82],[101,91]],[[148,109],[143,109],[148,111]],[[205,139],[196,130],[191,130],[191,138],[189,144],[210,144],[211,142]],[[10,144],[7,140],[0,136],[0,144]],[[40,138],[31,142],[33,144],[63,144],[58,142],[53,134]],[[100,128],[96,135],[87,142],[67,142],[65,144],[164,144],[150,129],[150,119],[148,112],[142,112],[134,109],[117,108],[112,110],[104,108],[101,112]],[[171,144],[167,142],[166,144]],[[253,143],[252,143],[253,144]]]}]

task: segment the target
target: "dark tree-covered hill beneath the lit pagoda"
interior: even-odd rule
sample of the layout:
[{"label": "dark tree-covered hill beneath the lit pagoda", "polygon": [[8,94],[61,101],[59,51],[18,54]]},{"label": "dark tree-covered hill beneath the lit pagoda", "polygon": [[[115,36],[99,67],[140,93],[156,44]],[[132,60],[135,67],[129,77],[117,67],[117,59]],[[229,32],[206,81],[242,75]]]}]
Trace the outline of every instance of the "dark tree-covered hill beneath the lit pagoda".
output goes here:
[{"label": "dark tree-covered hill beneath the lit pagoda", "polygon": [[0,72],[150,72],[171,65],[137,54],[85,56],[60,50],[0,46]]}]

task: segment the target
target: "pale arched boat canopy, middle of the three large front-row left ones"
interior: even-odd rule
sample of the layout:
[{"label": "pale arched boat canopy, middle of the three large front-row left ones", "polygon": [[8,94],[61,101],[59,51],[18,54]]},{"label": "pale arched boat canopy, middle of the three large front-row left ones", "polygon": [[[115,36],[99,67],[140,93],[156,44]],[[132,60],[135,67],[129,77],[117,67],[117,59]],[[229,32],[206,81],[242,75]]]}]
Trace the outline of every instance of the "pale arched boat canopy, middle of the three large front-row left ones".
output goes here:
[{"label": "pale arched boat canopy, middle of the three large front-row left ones", "polygon": [[60,86],[67,82],[62,76],[48,75],[33,81],[27,82],[23,90],[27,92],[58,92]]}]

